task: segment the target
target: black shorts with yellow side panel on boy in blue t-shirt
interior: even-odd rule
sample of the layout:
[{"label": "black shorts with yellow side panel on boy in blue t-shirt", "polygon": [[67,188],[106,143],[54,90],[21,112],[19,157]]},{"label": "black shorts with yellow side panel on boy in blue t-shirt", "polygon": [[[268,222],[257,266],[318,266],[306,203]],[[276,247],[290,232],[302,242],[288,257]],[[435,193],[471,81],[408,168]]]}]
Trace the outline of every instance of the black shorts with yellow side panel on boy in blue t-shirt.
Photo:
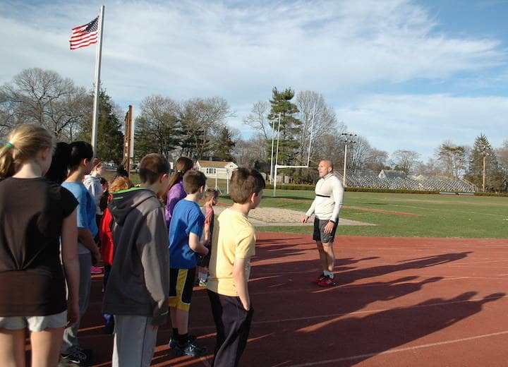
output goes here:
[{"label": "black shorts with yellow side panel on boy in blue t-shirt", "polygon": [[194,287],[195,267],[169,269],[169,307],[189,311]]}]

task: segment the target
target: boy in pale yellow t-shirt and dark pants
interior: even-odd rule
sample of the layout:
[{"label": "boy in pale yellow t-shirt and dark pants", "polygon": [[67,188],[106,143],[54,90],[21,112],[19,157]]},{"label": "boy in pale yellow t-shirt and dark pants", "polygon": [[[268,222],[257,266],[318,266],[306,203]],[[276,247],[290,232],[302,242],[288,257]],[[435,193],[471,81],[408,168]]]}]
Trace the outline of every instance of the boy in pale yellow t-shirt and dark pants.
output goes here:
[{"label": "boy in pale yellow t-shirt and dark pants", "polygon": [[217,220],[212,241],[208,297],[217,327],[213,366],[238,366],[247,344],[253,308],[248,294],[255,229],[248,212],[261,201],[265,179],[255,169],[238,168],[231,176],[234,204]]}]

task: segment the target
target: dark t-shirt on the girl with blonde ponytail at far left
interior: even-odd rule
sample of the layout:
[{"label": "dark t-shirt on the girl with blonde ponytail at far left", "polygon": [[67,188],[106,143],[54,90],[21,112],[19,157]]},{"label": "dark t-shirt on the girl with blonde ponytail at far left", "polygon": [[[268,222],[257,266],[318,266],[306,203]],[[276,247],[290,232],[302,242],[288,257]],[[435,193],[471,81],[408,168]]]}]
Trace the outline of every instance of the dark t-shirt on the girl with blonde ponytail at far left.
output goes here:
[{"label": "dark t-shirt on the girl with blonde ponytail at far left", "polygon": [[60,236],[77,205],[70,191],[44,178],[0,182],[0,316],[66,309]]}]

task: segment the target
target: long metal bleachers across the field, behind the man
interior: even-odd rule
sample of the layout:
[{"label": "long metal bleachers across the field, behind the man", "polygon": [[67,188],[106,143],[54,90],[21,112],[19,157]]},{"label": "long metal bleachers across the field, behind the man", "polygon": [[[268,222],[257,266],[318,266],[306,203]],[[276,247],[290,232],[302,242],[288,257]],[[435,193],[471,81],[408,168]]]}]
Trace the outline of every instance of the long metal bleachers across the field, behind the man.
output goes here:
[{"label": "long metal bleachers across the field, behind the man", "polygon": [[[342,181],[342,173],[336,172],[336,175]],[[475,185],[462,179],[406,175],[386,176],[380,178],[372,171],[348,171],[346,172],[346,186],[461,193],[473,193],[478,190]]]}]

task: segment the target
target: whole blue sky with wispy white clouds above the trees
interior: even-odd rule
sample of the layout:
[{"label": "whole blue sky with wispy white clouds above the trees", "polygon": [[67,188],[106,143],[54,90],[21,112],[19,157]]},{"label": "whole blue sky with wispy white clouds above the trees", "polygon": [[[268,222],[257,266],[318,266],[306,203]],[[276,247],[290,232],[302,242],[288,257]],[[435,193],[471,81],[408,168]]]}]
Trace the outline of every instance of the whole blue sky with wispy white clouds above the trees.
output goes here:
[{"label": "whole blue sky with wispy white clouds above the trees", "polygon": [[[92,87],[70,29],[101,3],[0,3],[0,83],[23,68]],[[102,83],[123,109],[162,94],[226,98],[242,124],[272,87],[320,92],[348,130],[423,160],[444,140],[508,139],[508,1],[107,1]]]}]

